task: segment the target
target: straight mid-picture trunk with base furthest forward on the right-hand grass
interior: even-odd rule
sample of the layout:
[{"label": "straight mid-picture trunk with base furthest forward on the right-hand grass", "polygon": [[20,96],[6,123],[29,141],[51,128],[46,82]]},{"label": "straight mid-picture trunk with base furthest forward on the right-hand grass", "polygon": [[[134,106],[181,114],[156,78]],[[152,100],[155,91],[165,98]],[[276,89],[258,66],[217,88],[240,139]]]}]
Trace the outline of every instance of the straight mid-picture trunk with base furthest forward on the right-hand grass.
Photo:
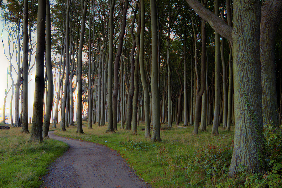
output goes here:
[{"label": "straight mid-picture trunk with base furthest forward on the right-hand grass", "polygon": [[152,27],[152,73],[151,73],[151,92],[152,92],[152,141],[161,141],[160,138],[160,102],[158,86],[158,31],[157,31],[157,10],[156,1],[150,0],[151,6],[151,27]]}]

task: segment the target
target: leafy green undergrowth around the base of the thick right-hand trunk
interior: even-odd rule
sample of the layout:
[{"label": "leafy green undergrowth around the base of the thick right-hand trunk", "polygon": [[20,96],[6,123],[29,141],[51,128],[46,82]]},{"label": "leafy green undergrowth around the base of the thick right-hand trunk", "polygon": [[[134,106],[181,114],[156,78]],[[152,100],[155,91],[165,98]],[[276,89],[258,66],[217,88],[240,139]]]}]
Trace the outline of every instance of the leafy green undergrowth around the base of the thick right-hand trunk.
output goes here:
[{"label": "leafy green undergrowth around the base of the thick right-hand trunk", "polygon": [[[201,173],[206,184],[213,187],[282,187],[282,128],[271,124],[264,126],[265,172],[248,174],[243,169],[235,178],[228,178],[228,169],[232,158],[232,148],[221,146],[221,139],[215,144],[196,151],[196,160],[189,164],[187,174]],[[232,141],[233,142],[233,141]]]}]

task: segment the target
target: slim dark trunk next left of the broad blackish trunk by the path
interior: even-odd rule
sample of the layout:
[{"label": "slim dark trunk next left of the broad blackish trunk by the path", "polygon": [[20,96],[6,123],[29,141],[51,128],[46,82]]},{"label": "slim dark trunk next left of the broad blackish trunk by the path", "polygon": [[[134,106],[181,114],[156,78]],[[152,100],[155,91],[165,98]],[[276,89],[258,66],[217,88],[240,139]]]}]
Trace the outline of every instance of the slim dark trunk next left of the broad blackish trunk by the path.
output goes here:
[{"label": "slim dark trunk next left of the broad blackish trunk by the path", "polygon": [[[28,0],[24,0],[24,22],[23,22],[23,115],[22,131],[29,133],[29,103],[28,103],[28,69],[29,69],[29,39],[28,39]],[[5,119],[5,116],[3,116]]]}]

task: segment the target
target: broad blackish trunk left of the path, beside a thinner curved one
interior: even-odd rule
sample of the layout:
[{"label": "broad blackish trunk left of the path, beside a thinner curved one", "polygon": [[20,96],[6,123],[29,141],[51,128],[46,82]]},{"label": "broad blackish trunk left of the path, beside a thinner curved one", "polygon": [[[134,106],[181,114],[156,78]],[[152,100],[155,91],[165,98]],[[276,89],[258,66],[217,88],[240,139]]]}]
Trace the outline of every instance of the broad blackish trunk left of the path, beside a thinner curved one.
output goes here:
[{"label": "broad blackish trunk left of the path, beside a thinner curved one", "polygon": [[43,142],[45,16],[46,1],[38,0],[35,89],[29,142]]}]

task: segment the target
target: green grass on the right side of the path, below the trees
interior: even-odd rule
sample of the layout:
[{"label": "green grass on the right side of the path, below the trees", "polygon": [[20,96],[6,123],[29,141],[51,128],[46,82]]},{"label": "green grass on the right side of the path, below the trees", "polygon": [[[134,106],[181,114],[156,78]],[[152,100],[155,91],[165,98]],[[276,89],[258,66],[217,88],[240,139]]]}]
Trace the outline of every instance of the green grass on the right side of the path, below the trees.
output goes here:
[{"label": "green grass on the right side of the path, below the trees", "polygon": [[212,126],[207,127],[207,132],[194,135],[193,126],[176,128],[174,124],[174,128],[161,131],[162,142],[151,142],[140,130],[144,128],[142,123],[137,127],[137,134],[119,128],[116,133],[105,133],[107,126],[92,126],[93,129],[83,127],[85,134],[75,133],[76,127],[70,127],[65,132],[57,130],[55,134],[100,143],[117,150],[141,178],[156,188],[213,187],[212,180],[205,179],[201,169],[197,171],[191,166],[202,148],[211,145],[231,148],[234,137],[233,126],[231,132],[221,130],[221,126],[219,135],[211,136]]}]

